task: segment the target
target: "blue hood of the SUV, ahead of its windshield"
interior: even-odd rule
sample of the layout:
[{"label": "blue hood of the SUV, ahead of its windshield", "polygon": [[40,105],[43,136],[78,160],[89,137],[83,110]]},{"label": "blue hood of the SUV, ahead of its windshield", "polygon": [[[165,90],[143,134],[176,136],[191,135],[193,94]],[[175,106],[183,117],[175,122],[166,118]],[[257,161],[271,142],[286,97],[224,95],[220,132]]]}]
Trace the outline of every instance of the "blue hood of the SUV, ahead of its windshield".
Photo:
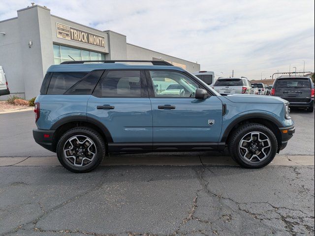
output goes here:
[{"label": "blue hood of the SUV, ahead of its windshield", "polygon": [[235,103],[288,103],[280,97],[265,95],[231,94],[224,96],[224,98]]}]

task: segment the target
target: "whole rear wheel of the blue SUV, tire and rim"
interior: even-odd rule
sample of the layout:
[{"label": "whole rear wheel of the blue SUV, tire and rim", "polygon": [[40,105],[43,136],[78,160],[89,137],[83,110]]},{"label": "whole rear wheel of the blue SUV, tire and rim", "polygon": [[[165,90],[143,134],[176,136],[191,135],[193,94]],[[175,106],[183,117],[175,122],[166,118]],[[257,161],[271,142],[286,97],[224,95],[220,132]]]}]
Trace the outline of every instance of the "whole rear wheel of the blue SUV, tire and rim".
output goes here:
[{"label": "whole rear wheel of the blue SUV, tire and rim", "polygon": [[95,169],[105,156],[105,143],[101,135],[88,127],[76,127],[65,132],[57,144],[60,163],[75,173]]}]

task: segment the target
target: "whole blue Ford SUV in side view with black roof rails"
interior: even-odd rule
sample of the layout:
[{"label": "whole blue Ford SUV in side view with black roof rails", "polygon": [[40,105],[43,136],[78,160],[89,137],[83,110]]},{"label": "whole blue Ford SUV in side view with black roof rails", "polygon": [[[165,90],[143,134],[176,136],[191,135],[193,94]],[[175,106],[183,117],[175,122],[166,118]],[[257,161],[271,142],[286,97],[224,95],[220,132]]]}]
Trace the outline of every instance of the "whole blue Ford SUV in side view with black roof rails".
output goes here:
[{"label": "whole blue Ford SUV in side view with black roof rails", "polygon": [[50,66],[34,109],[34,140],[72,172],[89,172],[112,152],[226,146],[240,165],[261,168],[295,132],[278,97],[221,96],[166,61],[84,62]]}]

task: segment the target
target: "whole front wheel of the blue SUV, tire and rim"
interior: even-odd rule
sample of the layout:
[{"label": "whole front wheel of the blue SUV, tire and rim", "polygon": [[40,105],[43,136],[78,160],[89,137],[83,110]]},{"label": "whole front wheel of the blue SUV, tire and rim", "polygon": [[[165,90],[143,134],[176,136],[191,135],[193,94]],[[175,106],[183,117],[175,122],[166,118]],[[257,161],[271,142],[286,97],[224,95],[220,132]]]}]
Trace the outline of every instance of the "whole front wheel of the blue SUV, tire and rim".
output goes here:
[{"label": "whole front wheel of the blue SUV, tire and rim", "polygon": [[246,168],[261,168],[276,156],[278,142],[266,126],[247,123],[239,126],[228,142],[228,149],[238,164]]}]

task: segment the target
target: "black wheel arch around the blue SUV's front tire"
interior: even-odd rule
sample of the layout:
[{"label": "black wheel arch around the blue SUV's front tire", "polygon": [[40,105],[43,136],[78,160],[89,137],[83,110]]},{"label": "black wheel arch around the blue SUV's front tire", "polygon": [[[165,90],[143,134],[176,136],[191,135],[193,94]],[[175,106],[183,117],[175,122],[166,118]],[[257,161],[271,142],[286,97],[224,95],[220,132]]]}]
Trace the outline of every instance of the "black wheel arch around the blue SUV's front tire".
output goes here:
[{"label": "black wheel arch around the blue SUV's front tire", "polygon": [[282,135],[281,132],[279,130],[279,127],[282,127],[282,123],[269,115],[264,115],[264,114],[247,114],[244,115],[242,117],[236,118],[234,119],[225,129],[222,138],[221,138],[221,142],[225,142],[228,143],[229,142],[229,138],[231,136],[231,134],[233,133],[233,130],[235,130],[237,127],[239,127],[242,124],[245,123],[258,123],[258,124],[262,124],[265,125],[266,127],[268,127],[269,129],[271,129],[271,131],[275,134],[276,138],[277,138],[277,142],[278,142],[278,148],[281,147],[282,145]]}]

